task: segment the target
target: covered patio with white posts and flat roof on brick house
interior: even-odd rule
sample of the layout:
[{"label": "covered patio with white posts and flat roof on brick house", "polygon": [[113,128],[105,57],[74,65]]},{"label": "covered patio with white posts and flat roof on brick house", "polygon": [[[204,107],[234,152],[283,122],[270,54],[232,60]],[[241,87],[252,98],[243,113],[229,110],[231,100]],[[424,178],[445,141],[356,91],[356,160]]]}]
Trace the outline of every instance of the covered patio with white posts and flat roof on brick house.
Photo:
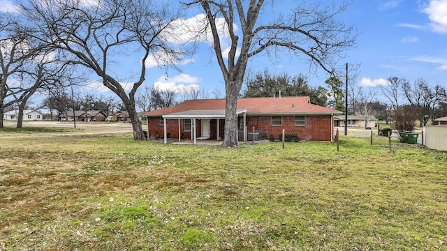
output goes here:
[{"label": "covered patio with white posts and flat roof on brick house", "polygon": [[[246,135],[246,109],[238,109],[237,116],[242,114],[243,122],[244,122],[244,135]],[[163,118],[163,138],[164,143],[168,143],[168,130],[167,130],[167,121],[168,119],[177,119],[178,120],[178,139],[179,142],[182,141],[181,135],[181,126],[180,123],[182,120],[191,120],[191,142],[193,144],[197,144],[197,140],[208,140],[211,139],[211,135],[216,135],[216,140],[219,142],[221,139],[220,135],[220,121],[225,119],[225,110],[224,109],[201,109],[201,110],[188,110],[184,112],[175,112],[171,114],[165,114],[162,116]],[[197,121],[200,120],[200,136],[197,137]],[[216,120],[216,128],[214,132],[210,131],[210,121]],[[245,136],[244,136],[245,140]]]}]

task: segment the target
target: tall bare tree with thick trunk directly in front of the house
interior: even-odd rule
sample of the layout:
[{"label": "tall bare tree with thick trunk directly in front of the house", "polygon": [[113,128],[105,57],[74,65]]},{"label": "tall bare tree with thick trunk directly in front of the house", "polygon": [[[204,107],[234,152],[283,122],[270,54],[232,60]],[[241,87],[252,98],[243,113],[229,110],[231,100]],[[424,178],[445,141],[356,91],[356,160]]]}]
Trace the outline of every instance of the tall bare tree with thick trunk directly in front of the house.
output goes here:
[{"label": "tall bare tree with thick trunk directly in front of the house", "polygon": [[[304,55],[313,66],[323,68],[333,74],[337,59],[342,52],[352,47],[356,40],[352,27],[336,22],[335,17],[346,10],[347,4],[320,8],[298,3],[291,9],[288,18],[283,13],[274,20],[272,13],[265,11],[267,20],[263,24],[256,24],[263,7],[274,1],[264,0],[194,0],[188,1],[187,6],[200,5],[205,11],[207,29],[210,30],[214,52],[225,82],[226,117],[223,146],[237,145],[237,96],[240,93],[248,59],[260,54],[270,47],[285,48],[295,54]],[[270,18],[269,18],[270,17]],[[218,19],[225,22],[226,32],[219,33]],[[268,21],[270,20],[270,21]],[[240,25],[242,34],[237,34],[235,23]],[[228,36],[230,50],[228,59],[223,55],[221,40]],[[240,39],[242,36],[242,39]]]}]

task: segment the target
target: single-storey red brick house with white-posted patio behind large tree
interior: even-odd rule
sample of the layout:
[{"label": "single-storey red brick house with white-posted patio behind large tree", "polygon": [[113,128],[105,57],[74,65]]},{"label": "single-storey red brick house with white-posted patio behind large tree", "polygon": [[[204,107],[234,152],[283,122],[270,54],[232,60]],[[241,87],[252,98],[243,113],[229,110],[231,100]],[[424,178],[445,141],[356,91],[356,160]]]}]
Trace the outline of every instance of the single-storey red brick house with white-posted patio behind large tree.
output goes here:
[{"label": "single-storey red brick house with white-posted patio behind large tree", "polygon": [[[180,139],[222,139],[225,100],[186,100],[179,105],[142,112],[147,116],[149,137]],[[285,134],[299,140],[331,141],[335,109],[311,104],[309,97],[240,98],[237,100],[238,140],[264,135],[279,140]],[[194,129],[196,128],[196,129]],[[248,133],[246,131],[248,128]],[[255,135],[252,135],[253,130]]]}]

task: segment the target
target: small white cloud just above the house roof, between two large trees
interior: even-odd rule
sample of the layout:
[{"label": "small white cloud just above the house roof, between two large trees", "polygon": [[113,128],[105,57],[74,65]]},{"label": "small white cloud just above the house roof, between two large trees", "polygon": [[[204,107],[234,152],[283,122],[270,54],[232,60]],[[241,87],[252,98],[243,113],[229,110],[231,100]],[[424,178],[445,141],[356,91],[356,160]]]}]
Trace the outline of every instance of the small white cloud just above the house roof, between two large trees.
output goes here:
[{"label": "small white cloud just above the house roof, between two large trees", "polygon": [[162,91],[175,91],[176,93],[182,93],[192,89],[199,90],[200,86],[196,84],[198,81],[198,77],[193,77],[182,73],[172,78],[159,77],[159,79],[154,82],[154,87]]}]

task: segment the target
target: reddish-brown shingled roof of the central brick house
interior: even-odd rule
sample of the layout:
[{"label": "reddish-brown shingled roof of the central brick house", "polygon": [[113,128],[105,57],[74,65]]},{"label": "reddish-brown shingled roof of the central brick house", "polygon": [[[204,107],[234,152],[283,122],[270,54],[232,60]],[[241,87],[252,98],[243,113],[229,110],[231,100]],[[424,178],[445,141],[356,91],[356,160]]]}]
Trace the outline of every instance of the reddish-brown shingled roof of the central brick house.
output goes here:
[{"label": "reddish-brown shingled roof of the central brick house", "polygon": [[[225,109],[225,99],[186,100],[179,105],[151,112],[143,112],[144,116],[161,116],[186,111],[222,110]],[[342,114],[342,112],[320,105],[311,104],[309,97],[283,98],[239,98],[238,110],[247,110],[247,115],[274,114]]]}]

